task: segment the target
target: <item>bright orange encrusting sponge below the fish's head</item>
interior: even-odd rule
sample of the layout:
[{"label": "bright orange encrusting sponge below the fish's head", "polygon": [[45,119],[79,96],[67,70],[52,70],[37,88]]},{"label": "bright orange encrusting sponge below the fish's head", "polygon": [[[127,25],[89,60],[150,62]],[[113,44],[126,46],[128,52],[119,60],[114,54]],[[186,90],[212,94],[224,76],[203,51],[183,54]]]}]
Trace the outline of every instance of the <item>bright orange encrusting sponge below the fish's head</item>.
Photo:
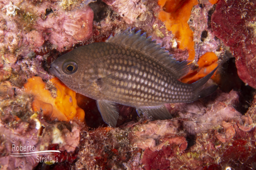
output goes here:
[{"label": "bright orange encrusting sponge below the fish's head", "polygon": [[78,119],[84,122],[84,110],[76,104],[75,92],[66,87],[57,77],[52,78],[50,82],[57,88],[57,97],[53,98],[49,90],[46,89],[46,83],[41,77],[34,76],[29,78],[24,85],[25,92],[35,96],[32,103],[34,111],[43,111],[43,116],[60,121],[69,121]]}]

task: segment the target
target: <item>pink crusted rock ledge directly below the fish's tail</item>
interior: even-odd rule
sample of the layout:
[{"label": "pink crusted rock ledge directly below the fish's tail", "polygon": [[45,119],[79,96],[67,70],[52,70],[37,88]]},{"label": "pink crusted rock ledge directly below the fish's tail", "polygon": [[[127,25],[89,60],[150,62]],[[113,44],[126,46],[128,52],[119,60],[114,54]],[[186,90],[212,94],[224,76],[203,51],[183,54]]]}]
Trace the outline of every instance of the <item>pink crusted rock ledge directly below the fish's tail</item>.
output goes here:
[{"label": "pink crusted rock ledge directly below the fish's tail", "polygon": [[242,116],[234,107],[239,103],[238,93],[217,91],[208,100],[195,101],[190,104],[170,104],[169,110],[179,117],[188,133],[197,134],[204,130],[219,126],[222,121]]}]

